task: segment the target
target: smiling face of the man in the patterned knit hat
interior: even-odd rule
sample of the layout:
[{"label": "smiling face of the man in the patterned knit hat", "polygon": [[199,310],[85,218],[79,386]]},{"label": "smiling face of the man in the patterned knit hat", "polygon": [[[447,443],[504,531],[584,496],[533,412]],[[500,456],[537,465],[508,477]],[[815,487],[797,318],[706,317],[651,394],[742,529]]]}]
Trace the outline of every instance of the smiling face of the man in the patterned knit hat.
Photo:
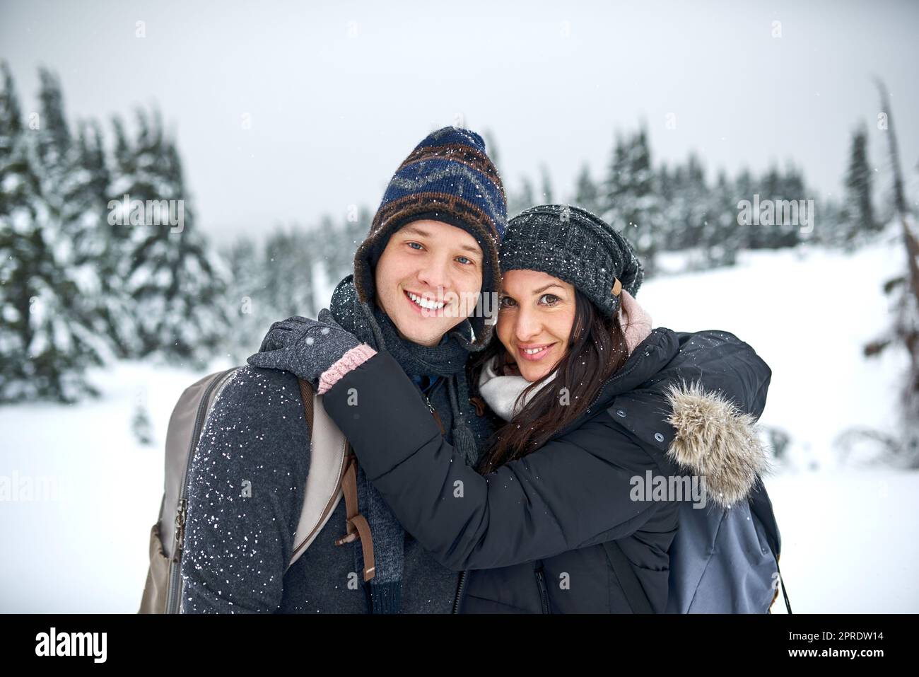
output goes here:
[{"label": "smiling face of the man in the patterned knit hat", "polygon": [[393,233],[377,262],[377,304],[403,338],[436,346],[475,311],[482,291],[482,248],[440,221],[413,221]]}]

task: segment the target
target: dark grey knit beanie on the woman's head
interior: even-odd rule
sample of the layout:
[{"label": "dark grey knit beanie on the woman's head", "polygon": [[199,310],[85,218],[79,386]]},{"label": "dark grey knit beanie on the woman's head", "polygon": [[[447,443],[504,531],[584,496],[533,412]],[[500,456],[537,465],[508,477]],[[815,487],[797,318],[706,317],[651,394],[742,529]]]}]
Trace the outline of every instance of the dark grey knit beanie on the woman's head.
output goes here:
[{"label": "dark grey knit beanie on the woman's head", "polygon": [[618,313],[623,289],[644,279],[629,241],[596,214],[567,204],[542,204],[507,223],[501,270],[540,270],[569,282],[605,316]]}]

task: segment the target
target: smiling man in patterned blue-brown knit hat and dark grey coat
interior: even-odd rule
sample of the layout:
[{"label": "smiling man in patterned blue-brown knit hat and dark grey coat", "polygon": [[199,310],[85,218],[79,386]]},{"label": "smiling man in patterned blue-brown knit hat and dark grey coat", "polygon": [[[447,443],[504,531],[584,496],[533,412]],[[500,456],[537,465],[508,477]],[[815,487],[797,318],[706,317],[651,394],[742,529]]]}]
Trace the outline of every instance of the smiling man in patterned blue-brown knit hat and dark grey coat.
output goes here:
[{"label": "smiling man in patterned blue-brown knit hat and dark grey coat", "polygon": [[[469,398],[467,358],[491,335],[469,299],[498,290],[505,221],[504,188],[482,138],[452,127],[432,132],[392,177],[354,275],[330,304],[336,322],[400,363],[470,464],[494,423]],[[359,539],[335,545],[346,533],[345,501],[287,569],[310,430],[296,377],[267,355],[235,373],[202,431],[188,481],[182,613],[450,613],[459,573],[405,534],[359,468],[373,578],[360,575]],[[251,496],[241,495],[244,481]]]}]

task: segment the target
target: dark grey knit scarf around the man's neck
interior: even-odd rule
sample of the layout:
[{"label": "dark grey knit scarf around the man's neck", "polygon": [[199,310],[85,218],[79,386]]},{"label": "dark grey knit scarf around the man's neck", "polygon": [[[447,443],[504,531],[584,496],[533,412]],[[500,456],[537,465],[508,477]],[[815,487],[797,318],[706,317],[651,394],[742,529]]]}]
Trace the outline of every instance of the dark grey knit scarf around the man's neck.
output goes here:
[{"label": "dark grey knit scarf around the man's neck", "polygon": [[[389,352],[409,376],[442,376],[447,379],[451,413],[449,441],[464,453],[469,465],[475,465],[478,460],[475,436],[459,404],[469,401],[464,371],[469,351],[474,349],[471,348],[468,321],[456,327],[438,346],[417,345],[401,338],[389,316],[376,304],[371,306],[360,302],[353,277],[349,275],[339,282],[332,294],[329,309],[335,322],[374,350]],[[371,611],[374,614],[398,614],[405,532],[360,465],[357,466],[357,504],[373,535],[376,570],[370,581]],[[354,545],[356,570],[363,571],[364,556],[360,541]]]}]

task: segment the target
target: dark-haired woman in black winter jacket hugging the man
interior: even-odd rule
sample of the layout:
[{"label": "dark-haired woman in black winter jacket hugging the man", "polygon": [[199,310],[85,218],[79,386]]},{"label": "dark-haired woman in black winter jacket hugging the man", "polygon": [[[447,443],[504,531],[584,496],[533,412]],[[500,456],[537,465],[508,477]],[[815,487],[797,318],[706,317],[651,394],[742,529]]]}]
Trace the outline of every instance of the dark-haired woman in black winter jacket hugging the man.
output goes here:
[{"label": "dark-haired woman in black winter jacket hugging the man", "polygon": [[[465,571],[454,611],[662,613],[678,501],[741,500],[766,468],[751,426],[771,372],[729,333],[651,330],[641,264],[590,212],[521,213],[501,265],[500,343],[471,382],[506,422],[476,469],[398,364],[333,323],[291,318],[263,350],[318,385],[406,531]],[[696,476],[707,493],[676,495]]]}]

